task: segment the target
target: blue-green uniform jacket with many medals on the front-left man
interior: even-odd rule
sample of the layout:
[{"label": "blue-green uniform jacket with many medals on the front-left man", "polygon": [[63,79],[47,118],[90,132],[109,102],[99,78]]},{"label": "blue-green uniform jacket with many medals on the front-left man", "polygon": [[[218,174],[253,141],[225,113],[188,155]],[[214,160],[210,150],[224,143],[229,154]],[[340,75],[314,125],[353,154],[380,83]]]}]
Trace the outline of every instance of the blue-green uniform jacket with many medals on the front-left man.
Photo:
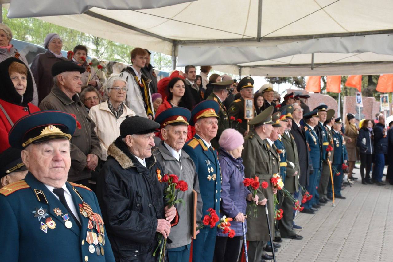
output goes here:
[{"label": "blue-green uniform jacket with many medals on the front-left man", "polygon": [[[85,186],[68,182],[66,186],[81,220],[81,229],[57,197],[31,173],[0,190],[2,261],[115,261],[105,228],[104,255],[88,250],[87,232],[100,235],[95,228],[88,229],[89,217],[81,214],[79,204],[87,203],[92,212],[101,215],[97,197]],[[37,216],[37,210],[43,212],[42,217]],[[62,214],[56,214],[55,210]],[[69,229],[62,218],[66,214],[72,223]]]}]

